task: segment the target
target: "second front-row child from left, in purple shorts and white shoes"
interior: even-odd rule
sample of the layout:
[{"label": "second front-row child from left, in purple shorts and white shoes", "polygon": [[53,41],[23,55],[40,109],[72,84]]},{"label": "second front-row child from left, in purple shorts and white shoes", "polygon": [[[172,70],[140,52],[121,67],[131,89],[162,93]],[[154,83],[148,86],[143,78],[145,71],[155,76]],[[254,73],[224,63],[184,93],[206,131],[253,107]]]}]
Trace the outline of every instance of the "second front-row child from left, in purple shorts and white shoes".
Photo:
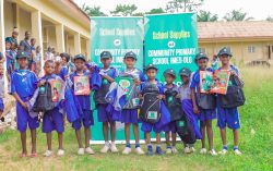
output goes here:
[{"label": "second front-row child from left, in purple shorts and white shoes", "polygon": [[[52,81],[52,80],[58,80],[59,82],[62,81],[61,77],[57,76],[56,74],[54,74],[55,71],[55,63],[52,60],[47,60],[45,62],[45,76],[41,77],[40,80],[40,84],[39,85],[44,85],[46,82]],[[61,100],[61,98],[59,98],[59,101]],[[52,139],[52,131],[56,130],[56,132],[58,133],[58,143],[59,143],[59,148],[58,148],[58,152],[57,156],[63,156],[64,155],[64,150],[62,147],[62,139],[63,139],[63,132],[64,132],[64,120],[63,120],[63,114],[59,111],[60,110],[60,102],[57,101],[56,102],[56,107],[52,109],[52,111],[47,111],[44,113],[43,117],[43,133],[46,133],[47,135],[47,151],[44,154],[45,157],[50,157],[54,152],[52,152],[52,148],[51,148],[51,139]]]}]

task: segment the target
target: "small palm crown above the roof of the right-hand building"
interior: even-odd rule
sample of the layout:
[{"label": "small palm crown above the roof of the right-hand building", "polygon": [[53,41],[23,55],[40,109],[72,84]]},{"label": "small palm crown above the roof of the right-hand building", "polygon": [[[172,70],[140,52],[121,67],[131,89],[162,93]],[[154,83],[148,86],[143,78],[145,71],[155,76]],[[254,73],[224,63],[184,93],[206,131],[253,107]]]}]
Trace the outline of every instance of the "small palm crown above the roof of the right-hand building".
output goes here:
[{"label": "small palm crown above the roof of the right-hand building", "polygon": [[226,20],[227,22],[253,20],[252,16],[248,16],[248,13],[241,12],[241,9],[240,10],[233,10],[230,13],[226,13],[226,15],[223,19]]}]

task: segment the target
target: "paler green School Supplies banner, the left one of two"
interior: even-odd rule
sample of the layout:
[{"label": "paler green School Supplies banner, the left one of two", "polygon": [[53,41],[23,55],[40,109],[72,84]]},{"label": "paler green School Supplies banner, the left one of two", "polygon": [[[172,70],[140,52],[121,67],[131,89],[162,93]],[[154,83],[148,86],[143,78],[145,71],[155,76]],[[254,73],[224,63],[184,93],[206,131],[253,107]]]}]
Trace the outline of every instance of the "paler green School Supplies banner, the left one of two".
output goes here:
[{"label": "paler green School Supplies banner, the left one of two", "polygon": [[[133,51],[138,56],[135,66],[143,69],[143,17],[92,17],[91,19],[91,57],[92,61],[102,66],[99,54],[107,50],[112,54],[111,66],[124,69],[126,52]],[[92,100],[93,101],[93,100]],[[94,105],[93,105],[94,107]],[[104,143],[103,124],[97,121],[94,111],[95,125],[92,126],[92,142]],[[124,142],[124,124],[117,122],[117,142]],[[140,132],[141,139],[144,133]],[[110,137],[109,137],[110,139]],[[130,139],[134,139],[131,130]],[[133,141],[134,142],[134,141]]]}]

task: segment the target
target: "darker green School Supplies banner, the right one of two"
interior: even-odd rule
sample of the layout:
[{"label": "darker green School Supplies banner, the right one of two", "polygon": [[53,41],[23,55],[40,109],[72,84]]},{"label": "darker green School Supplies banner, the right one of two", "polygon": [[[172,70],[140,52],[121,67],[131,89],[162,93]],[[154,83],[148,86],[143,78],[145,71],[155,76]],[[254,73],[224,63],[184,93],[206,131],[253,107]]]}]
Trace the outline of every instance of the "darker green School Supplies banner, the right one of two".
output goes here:
[{"label": "darker green School Supplies banner, the right one of two", "polygon": [[[153,63],[159,70],[157,78],[164,82],[164,71],[178,72],[187,66],[194,71],[198,52],[197,15],[194,13],[144,16],[144,64]],[[176,83],[181,84],[177,76]]]}]

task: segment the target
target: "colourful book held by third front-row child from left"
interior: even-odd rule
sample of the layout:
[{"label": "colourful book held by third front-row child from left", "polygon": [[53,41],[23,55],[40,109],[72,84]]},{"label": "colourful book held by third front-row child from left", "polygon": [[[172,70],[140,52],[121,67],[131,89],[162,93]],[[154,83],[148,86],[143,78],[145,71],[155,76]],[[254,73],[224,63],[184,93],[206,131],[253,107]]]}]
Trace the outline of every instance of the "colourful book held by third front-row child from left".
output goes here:
[{"label": "colourful book held by third front-row child from left", "polygon": [[90,78],[88,76],[74,76],[74,94],[90,95]]}]

